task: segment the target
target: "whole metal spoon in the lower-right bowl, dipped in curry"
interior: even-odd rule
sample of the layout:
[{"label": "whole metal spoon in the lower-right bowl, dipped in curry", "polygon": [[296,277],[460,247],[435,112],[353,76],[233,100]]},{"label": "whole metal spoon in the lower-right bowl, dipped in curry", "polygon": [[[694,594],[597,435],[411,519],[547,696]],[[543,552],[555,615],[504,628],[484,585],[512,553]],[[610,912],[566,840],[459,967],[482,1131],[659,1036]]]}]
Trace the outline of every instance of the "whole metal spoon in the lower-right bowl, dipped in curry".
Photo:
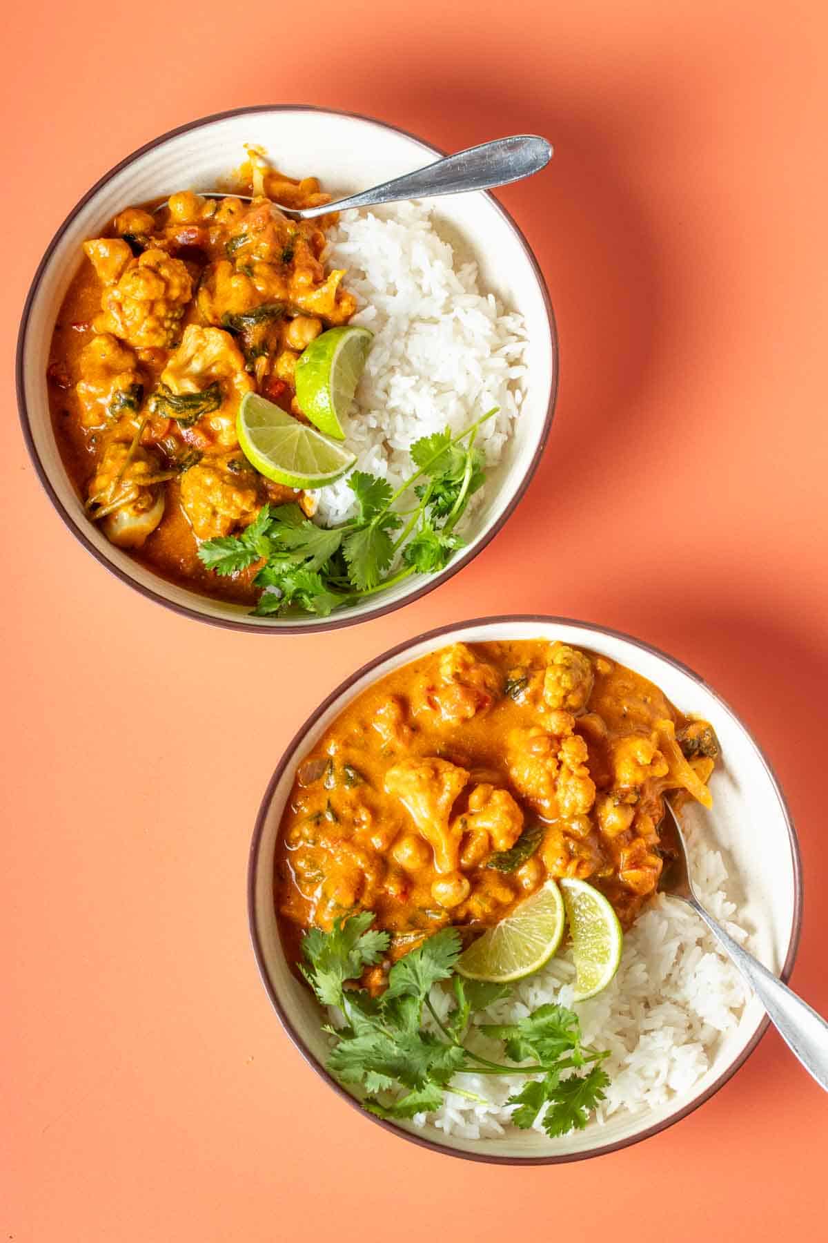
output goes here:
[{"label": "whole metal spoon in the lower-right bowl, dipped in curry", "polygon": [[809,1070],[817,1083],[828,1091],[828,1023],[817,1014],[802,998],[791,992],[787,984],[777,979],[758,960],[734,941],[725,930],[709,915],[693,889],[686,856],[686,844],[682,827],[670,804],[664,800],[665,817],[675,828],[679,854],[668,870],[668,879],[659,885],[663,894],[680,897],[700,915],[719,943],[727,951],[732,962],[751,986],[767,1016],[782,1039]]}]

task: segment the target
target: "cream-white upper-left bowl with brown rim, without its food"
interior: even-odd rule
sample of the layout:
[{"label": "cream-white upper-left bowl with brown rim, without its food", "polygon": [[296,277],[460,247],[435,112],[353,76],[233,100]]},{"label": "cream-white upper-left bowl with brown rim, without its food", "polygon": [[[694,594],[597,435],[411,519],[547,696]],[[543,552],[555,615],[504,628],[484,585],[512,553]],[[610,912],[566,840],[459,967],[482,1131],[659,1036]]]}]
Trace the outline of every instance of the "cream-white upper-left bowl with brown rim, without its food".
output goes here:
[{"label": "cream-white upper-left bowl with brown rim, without its food", "polygon": [[124,582],[187,617],[243,630],[323,630],[364,622],[432,590],[457,573],[493,538],[523,496],[544,450],[557,388],[555,321],[540,268],[511,216],[490,194],[436,200],[436,221],[472,255],[482,288],[497,293],[526,322],[531,383],[520,419],[492,475],[487,501],[473,515],[467,547],[439,574],[412,578],[331,618],[289,620],[250,617],[241,605],[186,590],[145,569],[108,542],[83,513],[55,443],[46,390],[52,329],[81,262],[81,244],[125,204],[182,188],[215,189],[238,167],[243,144],[262,145],[288,174],[313,174],[334,193],[353,193],[438,159],[442,152],[367,117],[304,107],[240,108],[170,131],[122,160],[63,221],[35,275],[17,342],[17,401],[24,434],[40,479],[70,530]]}]

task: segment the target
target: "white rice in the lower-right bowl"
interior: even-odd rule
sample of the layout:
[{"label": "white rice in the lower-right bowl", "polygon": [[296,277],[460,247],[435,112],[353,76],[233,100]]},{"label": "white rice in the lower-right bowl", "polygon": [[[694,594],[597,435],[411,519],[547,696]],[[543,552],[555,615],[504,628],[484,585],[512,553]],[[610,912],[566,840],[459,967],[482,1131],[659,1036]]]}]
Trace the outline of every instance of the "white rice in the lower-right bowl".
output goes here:
[{"label": "white rice in the lower-right bowl", "polygon": [[[737,941],[746,932],[732,922],[736,905],[727,897],[727,870],[719,850],[691,829],[688,851],[703,904]],[[550,1002],[572,1007],[580,1016],[583,1040],[610,1049],[603,1063],[610,1075],[607,1099],[596,1115],[601,1125],[612,1115],[638,1114],[690,1093],[710,1068],[726,1032],[739,1023],[747,993],[736,968],[719,950],[703,921],[675,899],[658,895],[624,937],[621,967],[612,983],[592,1001],[572,1002],[575,968],[566,950],[535,976],[514,986],[510,997],[477,1017],[480,1023],[514,1023]],[[434,1007],[444,1014],[451,1001],[434,988]],[[478,1047],[475,1042],[475,1048]],[[485,1049],[485,1043],[480,1049]],[[492,1054],[502,1054],[490,1044]],[[497,1058],[495,1058],[497,1059]],[[420,1114],[447,1135],[487,1139],[510,1130],[506,1098],[525,1075],[458,1075],[458,1088],[485,1104],[447,1093],[434,1114]],[[535,1124],[542,1131],[540,1119]]]}]

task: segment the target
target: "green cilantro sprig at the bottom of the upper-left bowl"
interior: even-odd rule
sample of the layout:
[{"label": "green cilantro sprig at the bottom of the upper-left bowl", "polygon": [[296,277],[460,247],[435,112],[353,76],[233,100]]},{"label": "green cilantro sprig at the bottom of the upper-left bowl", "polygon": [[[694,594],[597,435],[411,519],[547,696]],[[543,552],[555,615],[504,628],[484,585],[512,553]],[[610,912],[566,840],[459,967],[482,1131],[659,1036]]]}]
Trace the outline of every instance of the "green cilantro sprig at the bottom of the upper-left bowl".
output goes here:
[{"label": "green cilantro sprig at the bottom of the upper-left bowl", "polygon": [[[300,610],[328,617],[336,608],[400,583],[411,574],[444,569],[463,547],[456,527],[485,481],[485,460],[474,447],[489,410],[453,436],[448,429],[411,446],[416,466],[396,491],[387,480],[353,471],[348,484],[356,513],[336,527],[322,527],[298,505],[264,505],[237,536],[206,539],[202,563],[220,576],[262,562],[253,583],[262,589],[258,617]],[[395,506],[413,491],[407,513]]]}]

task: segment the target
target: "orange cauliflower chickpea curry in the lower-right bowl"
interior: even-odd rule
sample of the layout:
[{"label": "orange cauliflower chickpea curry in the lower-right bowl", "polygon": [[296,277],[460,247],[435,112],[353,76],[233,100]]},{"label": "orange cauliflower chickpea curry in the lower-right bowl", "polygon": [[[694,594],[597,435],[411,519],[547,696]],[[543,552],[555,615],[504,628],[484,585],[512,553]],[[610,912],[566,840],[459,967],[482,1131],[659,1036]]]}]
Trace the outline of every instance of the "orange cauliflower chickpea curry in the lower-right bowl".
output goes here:
[{"label": "orange cauliflower chickpea curry in the lower-right bowl", "polygon": [[[473,936],[550,876],[590,880],[629,926],[672,854],[662,797],[709,807],[715,753],[710,726],[647,679],[565,644],[423,656],[364,691],[298,766],[276,854],[289,958],[305,929],[356,910],[392,933],[392,957],[449,924]],[[493,866],[533,838],[513,870]]]}]

